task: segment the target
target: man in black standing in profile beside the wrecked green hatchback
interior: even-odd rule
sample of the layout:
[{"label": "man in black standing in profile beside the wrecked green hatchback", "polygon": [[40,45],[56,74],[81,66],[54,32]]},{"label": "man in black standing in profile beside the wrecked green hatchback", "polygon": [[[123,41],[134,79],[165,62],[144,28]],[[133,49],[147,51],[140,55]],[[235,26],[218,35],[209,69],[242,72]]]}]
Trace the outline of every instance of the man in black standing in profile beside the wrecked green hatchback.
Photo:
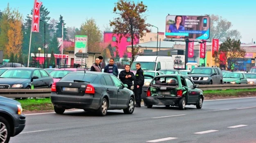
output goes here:
[{"label": "man in black standing in profile beside the wrecked green hatchback", "polygon": [[141,103],[141,94],[142,94],[142,86],[144,85],[144,71],[140,68],[140,63],[136,63],[136,74],[134,80],[134,94],[136,107],[140,107]]}]

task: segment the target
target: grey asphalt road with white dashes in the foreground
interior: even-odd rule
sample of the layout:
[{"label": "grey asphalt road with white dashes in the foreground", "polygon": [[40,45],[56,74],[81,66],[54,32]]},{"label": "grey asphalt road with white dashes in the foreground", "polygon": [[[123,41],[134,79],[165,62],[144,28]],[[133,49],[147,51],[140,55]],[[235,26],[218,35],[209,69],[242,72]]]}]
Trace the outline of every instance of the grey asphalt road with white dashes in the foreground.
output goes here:
[{"label": "grey asphalt road with white dashes in the foreground", "polygon": [[10,143],[256,143],[256,98],[204,101],[177,107],[142,106],[131,115],[104,117],[83,110],[27,114],[26,127]]}]

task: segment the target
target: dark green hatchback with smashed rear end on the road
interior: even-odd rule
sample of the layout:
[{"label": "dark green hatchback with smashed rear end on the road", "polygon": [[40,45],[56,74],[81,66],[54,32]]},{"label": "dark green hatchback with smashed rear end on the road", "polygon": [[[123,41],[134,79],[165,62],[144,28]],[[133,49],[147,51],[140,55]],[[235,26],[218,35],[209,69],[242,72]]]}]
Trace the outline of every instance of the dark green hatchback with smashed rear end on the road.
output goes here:
[{"label": "dark green hatchback with smashed rear end on the road", "polygon": [[[146,90],[147,96],[143,98],[144,105],[151,108],[153,105],[166,107],[178,106],[185,109],[186,105],[196,105],[202,108],[204,96],[188,76],[170,74],[156,76]],[[145,92],[145,91],[144,91]]]}]

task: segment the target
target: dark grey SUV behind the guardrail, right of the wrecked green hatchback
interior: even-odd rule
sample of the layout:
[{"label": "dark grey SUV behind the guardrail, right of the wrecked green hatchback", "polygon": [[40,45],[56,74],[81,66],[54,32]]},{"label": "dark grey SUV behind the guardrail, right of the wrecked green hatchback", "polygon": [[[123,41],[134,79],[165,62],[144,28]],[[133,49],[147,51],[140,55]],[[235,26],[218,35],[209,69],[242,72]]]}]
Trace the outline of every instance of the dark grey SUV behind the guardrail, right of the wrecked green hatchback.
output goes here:
[{"label": "dark grey SUV behind the guardrail, right of the wrecked green hatchback", "polygon": [[188,76],[195,84],[222,84],[223,76],[219,67],[195,67]]}]

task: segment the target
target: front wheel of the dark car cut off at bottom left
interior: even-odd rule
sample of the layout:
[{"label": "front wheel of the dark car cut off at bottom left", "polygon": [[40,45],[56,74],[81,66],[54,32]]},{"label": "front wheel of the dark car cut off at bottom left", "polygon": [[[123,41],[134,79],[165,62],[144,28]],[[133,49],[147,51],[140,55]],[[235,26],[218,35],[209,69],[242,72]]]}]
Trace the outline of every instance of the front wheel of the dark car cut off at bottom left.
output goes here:
[{"label": "front wheel of the dark car cut off at bottom left", "polygon": [[8,143],[11,136],[11,128],[8,121],[0,117],[0,143]]}]

